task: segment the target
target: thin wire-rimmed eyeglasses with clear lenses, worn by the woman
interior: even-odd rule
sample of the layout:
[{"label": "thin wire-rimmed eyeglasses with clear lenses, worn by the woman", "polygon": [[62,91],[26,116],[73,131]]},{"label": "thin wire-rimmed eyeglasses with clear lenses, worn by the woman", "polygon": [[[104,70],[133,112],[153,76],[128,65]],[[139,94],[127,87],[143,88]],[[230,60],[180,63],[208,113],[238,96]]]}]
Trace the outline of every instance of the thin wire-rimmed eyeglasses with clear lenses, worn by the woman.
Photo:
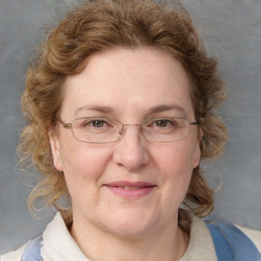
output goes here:
[{"label": "thin wire-rimmed eyeglasses with clear lenses, worn by the woman", "polygon": [[106,117],[88,117],[75,119],[72,123],[59,121],[63,127],[71,128],[76,140],[87,143],[111,143],[120,139],[125,126],[140,126],[141,132],[147,141],[173,142],[185,139],[189,134],[190,125],[198,122],[189,122],[185,118],[151,118],[140,124],[123,124],[122,122]]}]

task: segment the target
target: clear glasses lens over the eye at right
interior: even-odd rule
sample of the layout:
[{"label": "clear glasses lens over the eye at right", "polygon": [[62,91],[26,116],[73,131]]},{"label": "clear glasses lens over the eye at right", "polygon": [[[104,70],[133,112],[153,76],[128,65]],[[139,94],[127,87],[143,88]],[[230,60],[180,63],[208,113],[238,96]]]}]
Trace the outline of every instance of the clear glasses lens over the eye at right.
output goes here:
[{"label": "clear glasses lens over the eye at right", "polygon": [[185,139],[189,133],[189,121],[184,118],[153,118],[142,123],[146,140],[171,142]]}]

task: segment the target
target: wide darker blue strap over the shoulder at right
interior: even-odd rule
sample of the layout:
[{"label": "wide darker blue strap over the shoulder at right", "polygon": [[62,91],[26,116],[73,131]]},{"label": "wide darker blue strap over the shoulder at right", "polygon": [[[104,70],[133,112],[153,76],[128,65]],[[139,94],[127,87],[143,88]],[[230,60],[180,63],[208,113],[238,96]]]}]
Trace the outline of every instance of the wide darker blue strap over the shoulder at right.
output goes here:
[{"label": "wide darker blue strap over the shoulder at right", "polygon": [[218,261],[260,261],[254,243],[233,224],[206,221],[215,245]]}]

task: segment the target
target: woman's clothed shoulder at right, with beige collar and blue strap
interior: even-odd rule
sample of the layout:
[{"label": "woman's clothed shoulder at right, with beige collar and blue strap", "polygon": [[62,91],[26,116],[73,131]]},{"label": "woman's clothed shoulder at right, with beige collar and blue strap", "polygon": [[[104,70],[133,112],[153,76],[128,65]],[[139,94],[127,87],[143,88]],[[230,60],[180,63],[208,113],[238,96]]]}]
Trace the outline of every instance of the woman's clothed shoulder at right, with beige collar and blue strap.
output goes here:
[{"label": "woman's clothed shoulder at right, with beige collar and blue strap", "polygon": [[[190,242],[182,261],[194,260],[195,253],[197,256],[201,255],[196,260],[205,260],[206,256],[208,260],[217,260],[220,256],[220,260],[230,260],[234,254],[242,257],[239,260],[261,260],[258,253],[261,246],[261,231],[223,221],[204,221],[188,211],[182,213],[182,218],[184,214],[189,221]],[[245,258],[245,255],[248,257]]]}]

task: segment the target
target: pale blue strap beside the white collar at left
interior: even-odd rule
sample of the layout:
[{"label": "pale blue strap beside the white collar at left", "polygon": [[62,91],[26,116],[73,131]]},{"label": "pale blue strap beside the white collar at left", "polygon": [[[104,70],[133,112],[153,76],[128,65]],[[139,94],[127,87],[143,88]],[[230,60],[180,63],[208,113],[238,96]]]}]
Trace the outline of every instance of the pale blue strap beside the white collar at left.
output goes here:
[{"label": "pale blue strap beside the white collar at left", "polygon": [[43,261],[41,256],[42,241],[42,235],[30,241],[22,253],[21,261]]}]

